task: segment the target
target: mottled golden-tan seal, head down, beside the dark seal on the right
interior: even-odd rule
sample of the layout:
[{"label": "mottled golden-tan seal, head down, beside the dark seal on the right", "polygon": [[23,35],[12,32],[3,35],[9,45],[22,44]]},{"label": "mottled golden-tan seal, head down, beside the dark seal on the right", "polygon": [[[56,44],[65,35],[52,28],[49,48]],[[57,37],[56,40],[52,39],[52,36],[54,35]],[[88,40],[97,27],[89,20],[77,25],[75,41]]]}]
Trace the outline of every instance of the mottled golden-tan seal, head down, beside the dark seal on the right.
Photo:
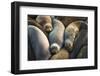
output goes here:
[{"label": "mottled golden-tan seal, head down, beside the dark seal on the right", "polygon": [[81,30],[87,30],[87,24],[84,21],[74,21],[66,27],[64,47],[70,52],[72,51],[74,40]]}]

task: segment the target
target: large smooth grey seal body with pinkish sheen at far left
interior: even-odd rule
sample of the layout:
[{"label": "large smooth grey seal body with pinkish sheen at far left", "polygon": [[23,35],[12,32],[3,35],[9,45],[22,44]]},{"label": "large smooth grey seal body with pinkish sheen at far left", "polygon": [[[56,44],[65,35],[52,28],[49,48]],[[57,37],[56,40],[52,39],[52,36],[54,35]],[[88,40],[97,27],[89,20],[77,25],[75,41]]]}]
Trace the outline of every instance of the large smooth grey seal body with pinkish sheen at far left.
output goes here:
[{"label": "large smooth grey seal body with pinkish sheen at far left", "polygon": [[36,26],[28,26],[28,44],[30,44],[29,54],[34,60],[48,60],[51,56],[49,51],[49,41],[45,34]]}]

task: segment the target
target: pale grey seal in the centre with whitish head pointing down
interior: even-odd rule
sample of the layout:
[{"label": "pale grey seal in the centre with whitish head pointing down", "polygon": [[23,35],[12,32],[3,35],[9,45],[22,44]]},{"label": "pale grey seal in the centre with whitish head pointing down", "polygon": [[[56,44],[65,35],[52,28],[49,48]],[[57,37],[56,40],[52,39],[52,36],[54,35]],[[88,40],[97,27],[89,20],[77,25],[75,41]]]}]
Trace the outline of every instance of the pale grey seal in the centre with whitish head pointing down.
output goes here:
[{"label": "pale grey seal in the centre with whitish head pointing down", "polygon": [[53,19],[53,30],[49,34],[50,52],[57,53],[63,46],[64,25],[61,21]]}]

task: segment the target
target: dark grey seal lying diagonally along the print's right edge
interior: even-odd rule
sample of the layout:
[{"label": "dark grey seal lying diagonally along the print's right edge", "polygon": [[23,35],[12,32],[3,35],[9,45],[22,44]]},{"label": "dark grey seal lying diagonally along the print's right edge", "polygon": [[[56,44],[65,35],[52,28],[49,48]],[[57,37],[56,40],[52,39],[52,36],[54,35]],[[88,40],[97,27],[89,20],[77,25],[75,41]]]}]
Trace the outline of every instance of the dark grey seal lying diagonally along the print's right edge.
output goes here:
[{"label": "dark grey seal lying diagonally along the print's right edge", "polygon": [[[84,46],[88,46],[88,33],[87,30],[81,30],[78,36],[75,38],[73,49],[70,54],[70,58],[77,58],[78,54]],[[86,49],[86,48],[85,48]],[[87,51],[87,49],[85,50]]]}]

